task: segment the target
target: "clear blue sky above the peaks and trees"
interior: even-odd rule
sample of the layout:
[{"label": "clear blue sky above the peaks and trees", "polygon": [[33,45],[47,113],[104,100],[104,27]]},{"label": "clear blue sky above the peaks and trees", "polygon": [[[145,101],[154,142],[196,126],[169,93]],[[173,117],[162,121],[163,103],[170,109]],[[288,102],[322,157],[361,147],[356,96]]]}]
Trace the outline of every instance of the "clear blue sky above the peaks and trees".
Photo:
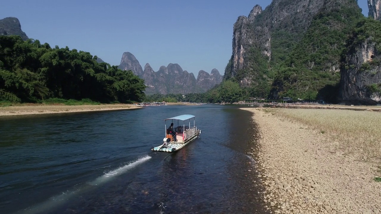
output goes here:
[{"label": "clear blue sky above the peaks and trees", "polygon": [[[232,53],[233,24],[254,5],[271,0],[12,0],[2,17],[16,17],[29,38],[68,46],[119,65],[129,51],[144,69],[148,62],[178,63],[182,69],[224,73]],[[359,0],[367,16],[366,0]]]}]

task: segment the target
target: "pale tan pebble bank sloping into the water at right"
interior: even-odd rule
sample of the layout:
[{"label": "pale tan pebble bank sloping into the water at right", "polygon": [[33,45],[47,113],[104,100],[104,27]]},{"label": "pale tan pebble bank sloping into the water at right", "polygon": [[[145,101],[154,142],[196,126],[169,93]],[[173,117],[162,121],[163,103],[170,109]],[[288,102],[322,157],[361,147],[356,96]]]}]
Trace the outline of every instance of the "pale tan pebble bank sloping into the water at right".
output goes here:
[{"label": "pale tan pebble bank sloping into the water at right", "polygon": [[381,213],[381,182],[375,164],[338,149],[327,134],[278,118],[264,109],[254,113],[260,140],[258,171],[263,201],[275,213]]}]

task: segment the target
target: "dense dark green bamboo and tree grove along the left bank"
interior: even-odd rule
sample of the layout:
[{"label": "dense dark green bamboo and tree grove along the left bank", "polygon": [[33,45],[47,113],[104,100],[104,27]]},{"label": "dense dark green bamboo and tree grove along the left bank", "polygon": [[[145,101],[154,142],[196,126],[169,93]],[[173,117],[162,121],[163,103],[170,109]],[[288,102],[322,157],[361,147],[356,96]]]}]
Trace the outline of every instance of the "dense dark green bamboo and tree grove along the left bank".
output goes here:
[{"label": "dense dark green bamboo and tree grove along the left bank", "polygon": [[0,36],[0,101],[142,101],[144,80],[88,52]]}]

